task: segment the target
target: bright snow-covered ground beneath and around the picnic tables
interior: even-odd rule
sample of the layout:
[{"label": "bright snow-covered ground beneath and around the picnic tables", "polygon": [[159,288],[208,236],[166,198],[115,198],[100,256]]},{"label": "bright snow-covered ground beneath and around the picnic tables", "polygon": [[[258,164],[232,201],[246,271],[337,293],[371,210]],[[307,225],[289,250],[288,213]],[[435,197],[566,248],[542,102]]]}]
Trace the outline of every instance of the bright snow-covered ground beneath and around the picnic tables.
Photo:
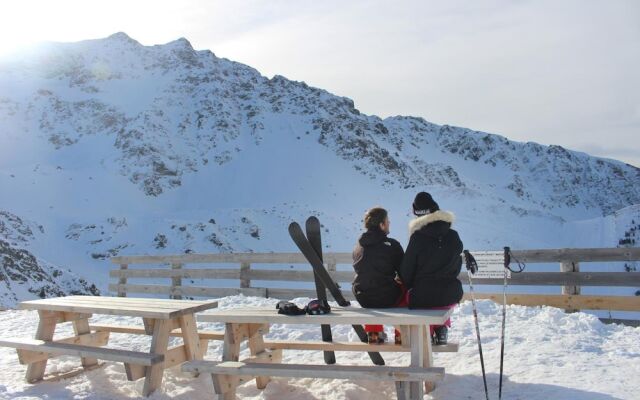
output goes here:
[{"label": "bright snow-covered ground beneath and around the picnic tables", "polygon": [[[305,304],[309,299],[296,299]],[[221,308],[272,306],[274,299],[234,296],[220,300]],[[480,301],[480,329],[491,398],[497,398],[500,352],[500,306]],[[333,306],[336,306],[333,304]],[[275,310],[274,310],[275,312]],[[505,399],[637,399],[640,394],[640,328],[603,325],[585,313],[565,314],[543,307],[509,306],[507,310],[505,353]],[[100,323],[131,324],[123,317],[96,316]],[[446,368],[446,377],[426,399],[481,399],[484,397],[482,375],[475,340],[472,307],[463,303],[454,313],[451,340],[460,344],[458,353],[435,354],[437,366]],[[0,313],[5,335],[35,332],[37,314],[27,311]],[[69,324],[70,325],[70,324]],[[202,325],[201,328],[221,329]],[[390,329],[390,328],[388,328]],[[71,335],[63,326],[58,337]],[[391,333],[391,332],[389,332]],[[350,327],[333,327],[336,340],[355,340]],[[320,339],[317,327],[274,325],[269,337],[277,339]],[[174,339],[179,340],[179,339]],[[221,342],[211,342],[206,358],[219,359]],[[112,334],[110,346],[146,350],[149,339],[143,336]],[[243,352],[247,352],[246,349]],[[242,357],[242,355],[241,355]],[[387,364],[408,363],[406,354],[385,354]],[[118,399],[141,398],[142,380],[126,380],[122,364],[105,366],[58,382],[30,385],[24,382],[25,366],[18,364],[13,349],[0,348],[1,399]],[[320,352],[286,352],[285,362],[323,362]],[[339,363],[369,364],[366,355],[337,353]],[[77,369],[79,360],[65,357],[48,364],[48,373]],[[207,376],[193,379],[179,368],[165,372],[162,388],[150,399],[210,399],[213,386]],[[329,381],[321,379],[272,380],[264,391],[253,384],[239,388],[241,399],[389,399],[395,398],[393,384],[370,381]]]}]

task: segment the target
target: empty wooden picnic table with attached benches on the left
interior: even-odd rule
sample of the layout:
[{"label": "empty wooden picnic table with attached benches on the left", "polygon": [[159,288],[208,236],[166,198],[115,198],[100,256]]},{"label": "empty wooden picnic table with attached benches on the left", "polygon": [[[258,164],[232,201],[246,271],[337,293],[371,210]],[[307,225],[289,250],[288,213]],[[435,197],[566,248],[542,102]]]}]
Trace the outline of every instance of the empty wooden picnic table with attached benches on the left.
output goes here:
[{"label": "empty wooden picnic table with attached benches on the left", "polygon": [[[206,347],[200,343],[196,312],[218,306],[216,301],[166,300],[132,297],[68,296],[23,301],[22,310],[39,314],[35,339],[0,339],[0,346],[15,347],[21,364],[27,364],[26,380],[42,380],[47,360],[59,355],[81,358],[84,369],[95,367],[98,359],[123,362],[127,379],[145,378],[143,395],[148,396],[162,382],[166,368],[190,360],[201,360]],[[92,314],[141,317],[144,329],[151,335],[148,352],[110,349],[109,331],[91,332]],[[72,322],[75,336],[54,340],[56,325]],[[183,344],[169,348],[169,335],[180,329]]]}]

